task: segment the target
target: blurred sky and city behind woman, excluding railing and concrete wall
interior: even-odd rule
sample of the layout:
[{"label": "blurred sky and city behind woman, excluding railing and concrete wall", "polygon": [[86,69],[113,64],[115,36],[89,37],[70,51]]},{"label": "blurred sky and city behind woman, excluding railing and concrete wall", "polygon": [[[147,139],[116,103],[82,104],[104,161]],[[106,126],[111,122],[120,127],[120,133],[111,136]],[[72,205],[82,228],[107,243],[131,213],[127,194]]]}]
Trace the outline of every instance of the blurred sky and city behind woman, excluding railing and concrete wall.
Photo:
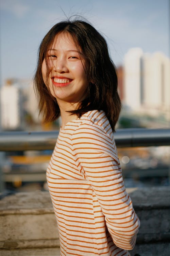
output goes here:
[{"label": "blurred sky and city behind woman, excluding railing and concrete wall", "polygon": [[[49,131],[33,89],[39,44],[81,15],[104,35],[117,67],[119,128],[170,128],[169,0],[0,0],[0,131]],[[52,151],[0,152],[1,192],[47,190]],[[170,147],[118,148],[126,187],[169,186]]]}]

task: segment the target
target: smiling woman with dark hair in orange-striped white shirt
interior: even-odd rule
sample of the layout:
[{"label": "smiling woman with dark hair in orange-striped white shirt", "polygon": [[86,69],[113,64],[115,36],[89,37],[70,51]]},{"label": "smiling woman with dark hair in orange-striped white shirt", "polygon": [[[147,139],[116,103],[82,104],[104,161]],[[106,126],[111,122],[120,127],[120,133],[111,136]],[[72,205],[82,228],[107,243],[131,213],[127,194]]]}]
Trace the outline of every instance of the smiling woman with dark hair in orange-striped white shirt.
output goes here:
[{"label": "smiling woman with dark hair in orange-striped white shirt", "polygon": [[47,169],[61,255],[130,255],[139,219],[113,137],[121,103],[105,39],[81,20],[56,24],[34,82],[45,122],[62,118]]}]

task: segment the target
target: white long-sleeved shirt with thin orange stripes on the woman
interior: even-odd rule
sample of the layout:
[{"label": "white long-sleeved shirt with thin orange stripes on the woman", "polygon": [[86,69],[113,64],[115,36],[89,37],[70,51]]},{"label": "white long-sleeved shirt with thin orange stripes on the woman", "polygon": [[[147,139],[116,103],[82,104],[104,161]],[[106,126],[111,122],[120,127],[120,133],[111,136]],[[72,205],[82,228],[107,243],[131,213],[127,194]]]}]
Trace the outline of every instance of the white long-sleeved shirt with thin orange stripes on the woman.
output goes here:
[{"label": "white long-sleeved shirt with thin orange stripes on the woman", "polygon": [[60,130],[47,182],[61,255],[130,255],[140,222],[103,111],[89,111]]}]

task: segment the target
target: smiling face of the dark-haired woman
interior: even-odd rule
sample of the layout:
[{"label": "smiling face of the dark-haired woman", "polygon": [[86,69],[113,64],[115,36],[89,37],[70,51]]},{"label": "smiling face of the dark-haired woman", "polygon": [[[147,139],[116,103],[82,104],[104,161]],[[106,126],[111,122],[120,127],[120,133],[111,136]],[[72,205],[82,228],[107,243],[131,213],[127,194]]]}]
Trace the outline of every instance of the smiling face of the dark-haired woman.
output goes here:
[{"label": "smiling face of the dark-haired woman", "polygon": [[51,94],[60,101],[78,103],[86,98],[86,61],[81,49],[77,49],[69,33],[57,34],[47,51],[47,66],[44,59],[42,75]]}]

